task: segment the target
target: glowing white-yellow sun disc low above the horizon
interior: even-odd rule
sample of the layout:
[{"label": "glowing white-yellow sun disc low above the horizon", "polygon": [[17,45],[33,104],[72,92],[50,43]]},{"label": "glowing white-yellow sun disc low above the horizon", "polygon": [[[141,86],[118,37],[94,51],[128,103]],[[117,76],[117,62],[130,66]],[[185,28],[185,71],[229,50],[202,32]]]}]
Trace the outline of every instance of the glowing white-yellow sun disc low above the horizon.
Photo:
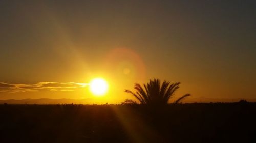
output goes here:
[{"label": "glowing white-yellow sun disc low above the horizon", "polygon": [[103,78],[94,78],[90,82],[90,90],[95,96],[103,96],[108,91],[109,85]]}]

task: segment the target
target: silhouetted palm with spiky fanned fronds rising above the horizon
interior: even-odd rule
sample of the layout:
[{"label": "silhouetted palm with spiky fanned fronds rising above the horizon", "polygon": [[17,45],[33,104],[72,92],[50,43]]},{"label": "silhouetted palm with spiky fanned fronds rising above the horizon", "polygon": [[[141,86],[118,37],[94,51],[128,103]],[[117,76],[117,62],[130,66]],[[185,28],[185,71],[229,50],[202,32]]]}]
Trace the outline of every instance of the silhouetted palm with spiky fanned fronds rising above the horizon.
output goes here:
[{"label": "silhouetted palm with spiky fanned fronds rising above the horizon", "polygon": [[[126,99],[121,104],[148,104],[148,105],[163,105],[167,104],[169,99],[173,97],[176,90],[180,87],[180,82],[175,82],[170,84],[170,82],[164,80],[161,84],[159,79],[154,79],[148,82],[147,84],[143,84],[143,87],[135,83],[134,89],[136,92],[132,92],[131,90],[125,90],[126,93],[132,94],[136,100]],[[190,94],[185,94],[181,96],[174,103],[179,103],[185,97],[190,96]]]}]

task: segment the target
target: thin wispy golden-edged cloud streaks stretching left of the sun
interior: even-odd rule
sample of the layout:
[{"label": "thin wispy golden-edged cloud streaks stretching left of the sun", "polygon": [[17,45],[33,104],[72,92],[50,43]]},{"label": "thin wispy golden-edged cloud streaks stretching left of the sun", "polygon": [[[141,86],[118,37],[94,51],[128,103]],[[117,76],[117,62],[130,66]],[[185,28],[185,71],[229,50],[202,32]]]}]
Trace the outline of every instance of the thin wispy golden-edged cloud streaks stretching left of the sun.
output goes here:
[{"label": "thin wispy golden-edged cloud streaks stretching left of the sun", "polygon": [[41,90],[49,91],[74,91],[77,88],[83,88],[88,83],[59,83],[59,82],[39,82],[36,84],[9,84],[0,82],[0,92],[19,93],[19,92],[37,92]]}]

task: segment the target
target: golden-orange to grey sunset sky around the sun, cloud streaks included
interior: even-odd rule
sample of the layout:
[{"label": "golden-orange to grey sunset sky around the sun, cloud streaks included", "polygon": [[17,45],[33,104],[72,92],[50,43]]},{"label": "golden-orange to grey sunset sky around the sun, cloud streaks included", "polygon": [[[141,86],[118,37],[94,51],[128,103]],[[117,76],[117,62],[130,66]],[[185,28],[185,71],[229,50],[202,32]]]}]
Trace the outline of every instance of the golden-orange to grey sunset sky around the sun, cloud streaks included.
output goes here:
[{"label": "golden-orange to grey sunset sky around the sun, cloud streaks included", "polygon": [[255,1],[2,0],[0,21],[0,99],[119,103],[153,78],[177,98],[256,98]]}]

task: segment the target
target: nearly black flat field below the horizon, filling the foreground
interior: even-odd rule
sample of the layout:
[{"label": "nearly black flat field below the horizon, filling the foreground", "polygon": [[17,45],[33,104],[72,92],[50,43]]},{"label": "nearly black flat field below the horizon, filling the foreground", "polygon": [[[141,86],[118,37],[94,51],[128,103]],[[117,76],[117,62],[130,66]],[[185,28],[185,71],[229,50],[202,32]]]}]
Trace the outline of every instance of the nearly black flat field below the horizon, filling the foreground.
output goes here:
[{"label": "nearly black flat field below the horizon, filling the foreground", "polygon": [[256,103],[0,105],[0,142],[256,142]]}]

